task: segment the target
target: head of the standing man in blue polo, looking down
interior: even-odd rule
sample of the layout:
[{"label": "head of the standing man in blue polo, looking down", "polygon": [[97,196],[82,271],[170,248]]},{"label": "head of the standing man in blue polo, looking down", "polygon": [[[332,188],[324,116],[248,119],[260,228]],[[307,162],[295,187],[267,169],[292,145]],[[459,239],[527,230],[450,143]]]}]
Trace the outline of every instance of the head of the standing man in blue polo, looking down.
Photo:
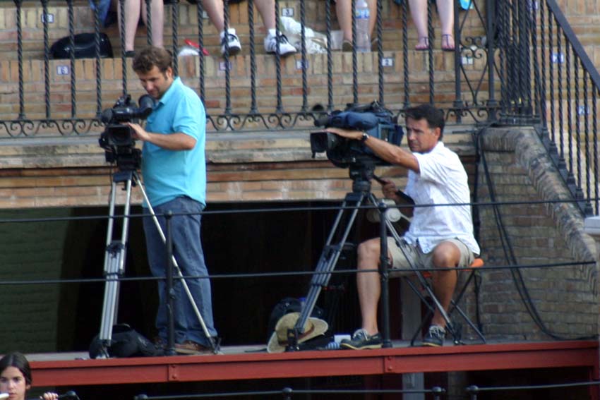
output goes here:
[{"label": "head of the standing man in blue polo, looking down", "polygon": [[160,99],[174,80],[171,53],[162,47],[145,47],[133,59],[133,71],[148,95]]}]

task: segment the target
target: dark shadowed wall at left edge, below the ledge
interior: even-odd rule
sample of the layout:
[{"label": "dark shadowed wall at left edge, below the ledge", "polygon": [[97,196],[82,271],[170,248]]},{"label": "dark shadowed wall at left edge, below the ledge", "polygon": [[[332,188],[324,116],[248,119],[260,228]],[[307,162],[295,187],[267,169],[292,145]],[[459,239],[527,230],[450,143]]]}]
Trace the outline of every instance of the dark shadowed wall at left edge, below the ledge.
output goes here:
[{"label": "dark shadowed wall at left edge, below the ledge", "polygon": [[[0,281],[59,279],[67,222],[4,222],[5,219],[68,217],[68,209],[1,211]],[[0,291],[0,353],[56,349],[59,296],[57,284],[6,284]],[[15,334],[18,332],[18,334]]]}]

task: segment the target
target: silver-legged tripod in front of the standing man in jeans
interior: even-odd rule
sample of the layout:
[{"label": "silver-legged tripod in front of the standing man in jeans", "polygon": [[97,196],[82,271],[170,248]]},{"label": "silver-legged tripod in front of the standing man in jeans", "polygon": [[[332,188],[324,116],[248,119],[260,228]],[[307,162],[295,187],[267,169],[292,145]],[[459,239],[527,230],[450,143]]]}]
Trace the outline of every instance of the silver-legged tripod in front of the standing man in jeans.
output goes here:
[{"label": "silver-legged tripod in front of the standing man in jeans", "polygon": [[[117,164],[119,162],[117,161]],[[135,164],[135,163],[134,163]],[[114,238],[113,226],[114,226],[114,207],[116,202],[116,189],[119,186],[119,183],[124,184],[124,189],[126,190],[126,198],[123,212],[123,226],[121,229],[120,238]],[[129,215],[131,208],[131,188],[134,186],[138,186],[141,190],[145,203],[148,205],[148,210],[152,216],[152,220],[155,223],[156,229],[158,230],[160,237],[162,238],[163,243],[167,243],[167,238],[164,236],[164,232],[160,226],[160,223],[156,217],[154,210],[152,209],[152,205],[150,205],[150,201],[148,200],[148,195],[144,190],[143,184],[140,182],[140,177],[138,176],[138,172],[136,171],[136,167],[133,168],[119,168],[119,171],[113,174],[112,177],[112,186],[110,190],[110,203],[109,203],[109,220],[108,220],[108,229],[107,229],[107,247],[106,253],[104,256],[104,276],[106,277],[106,284],[104,285],[104,304],[102,305],[102,322],[100,325],[100,341],[102,342],[102,351],[100,351],[100,356],[98,358],[108,358],[109,353],[108,349],[111,345],[112,341],[112,327],[114,325],[114,320],[117,315],[117,310],[119,307],[119,277],[122,277],[125,271],[125,255],[126,255],[126,245],[127,245],[127,237],[128,237],[128,226],[129,226]],[[186,296],[190,301],[194,313],[196,317],[198,317],[198,321],[203,329],[205,336],[208,338],[210,343],[210,347],[214,353],[218,353],[217,344],[215,343],[215,339],[212,338],[210,333],[208,332],[208,328],[205,325],[204,319],[202,315],[200,315],[200,310],[198,310],[198,306],[193,299],[192,293],[186,284],[186,280],[184,279],[184,275],[181,274],[181,269],[179,269],[179,265],[177,265],[177,261],[175,257],[171,253],[170,246],[167,246],[167,254],[170,254],[169,262],[172,264],[174,272],[176,272],[177,277],[181,279],[181,285],[186,292]],[[171,268],[169,268],[171,269]],[[172,343],[172,327],[173,327],[173,305],[172,305],[172,277],[173,270],[167,271],[167,299],[169,299],[169,306],[167,306],[167,317],[169,318],[169,349],[173,349]]]}]

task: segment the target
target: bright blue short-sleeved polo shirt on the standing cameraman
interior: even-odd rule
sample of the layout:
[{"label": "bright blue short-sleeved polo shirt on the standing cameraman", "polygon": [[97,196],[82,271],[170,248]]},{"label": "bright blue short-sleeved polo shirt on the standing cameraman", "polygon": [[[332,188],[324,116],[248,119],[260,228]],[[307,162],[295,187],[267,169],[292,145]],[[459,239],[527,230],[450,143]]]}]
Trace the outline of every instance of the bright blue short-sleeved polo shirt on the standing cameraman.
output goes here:
[{"label": "bright blue short-sleeved polo shirt on the standing cameraman", "polygon": [[148,116],[145,129],[164,135],[185,133],[196,139],[191,150],[165,150],[144,143],[142,175],[150,205],[161,205],[179,196],[206,205],[206,114],[196,92],[175,78]]}]

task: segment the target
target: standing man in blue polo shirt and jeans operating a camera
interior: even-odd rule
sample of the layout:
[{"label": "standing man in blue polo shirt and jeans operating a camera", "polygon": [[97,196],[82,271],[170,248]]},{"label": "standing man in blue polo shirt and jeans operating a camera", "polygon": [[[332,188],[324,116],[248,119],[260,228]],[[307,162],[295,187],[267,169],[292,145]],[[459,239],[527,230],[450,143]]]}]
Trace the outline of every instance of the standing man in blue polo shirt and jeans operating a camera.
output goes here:
[{"label": "standing man in blue polo shirt and jeans operating a camera", "polygon": [[[196,92],[175,78],[172,56],[165,49],[146,47],[133,59],[140,83],[157,103],[148,116],[145,129],[136,123],[133,137],[142,140],[142,175],[148,200],[164,231],[166,212],[172,219],[174,255],[184,276],[206,276],[200,242],[200,212],[206,192],[205,128],[206,116]],[[148,214],[148,205],[144,204]],[[177,215],[182,214],[182,215]],[[165,246],[150,217],[144,219],[150,270],[164,277],[167,269]],[[212,300],[208,279],[186,279],[211,337],[217,335],[212,321]],[[159,281],[159,308],[156,317],[157,341],[167,341],[167,298],[164,281]],[[175,283],[175,350],[178,353],[202,353],[210,348],[200,320],[182,285]]]}]

